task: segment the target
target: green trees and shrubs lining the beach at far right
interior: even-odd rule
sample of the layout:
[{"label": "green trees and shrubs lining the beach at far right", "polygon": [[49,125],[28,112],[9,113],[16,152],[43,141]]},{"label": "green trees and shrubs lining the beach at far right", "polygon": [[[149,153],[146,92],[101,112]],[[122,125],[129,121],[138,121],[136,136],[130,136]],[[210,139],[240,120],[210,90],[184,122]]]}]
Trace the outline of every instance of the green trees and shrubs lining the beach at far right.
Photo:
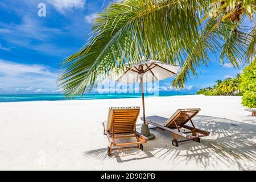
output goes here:
[{"label": "green trees and shrubs lining the beach at far right", "polygon": [[200,89],[196,94],[205,96],[243,96],[242,104],[256,107],[256,58],[234,78],[217,80],[212,87]]}]

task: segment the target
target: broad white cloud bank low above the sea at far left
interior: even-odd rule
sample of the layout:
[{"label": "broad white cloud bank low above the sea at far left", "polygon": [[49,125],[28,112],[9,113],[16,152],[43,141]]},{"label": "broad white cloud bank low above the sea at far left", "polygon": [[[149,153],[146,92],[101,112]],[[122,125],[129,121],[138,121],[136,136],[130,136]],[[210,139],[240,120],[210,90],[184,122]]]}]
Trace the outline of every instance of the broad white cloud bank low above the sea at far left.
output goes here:
[{"label": "broad white cloud bank low above the sea at far left", "polygon": [[[5,92],[32,92],[33,88],[56,90],[57,73],[45,65],[20,64],[0,59],[0,85]],[[38,90],[39,91],[39,90]]]}]

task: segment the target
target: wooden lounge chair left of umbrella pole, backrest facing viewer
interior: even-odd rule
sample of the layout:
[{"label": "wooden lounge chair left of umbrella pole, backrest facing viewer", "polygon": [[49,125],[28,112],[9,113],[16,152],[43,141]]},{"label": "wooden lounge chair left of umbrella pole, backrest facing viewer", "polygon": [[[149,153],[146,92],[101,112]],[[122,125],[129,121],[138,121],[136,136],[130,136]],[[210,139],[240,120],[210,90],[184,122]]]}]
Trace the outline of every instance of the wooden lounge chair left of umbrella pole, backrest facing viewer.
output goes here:
[{"label": "wooden lounge chair left of umbrella pole, backrest facing viewer", "polygon": [[[109,139],[108,156],[113,150],[139,148],[143,151],[142,144],[147,143],[147,138],[136,131],[139,110],[139,107],[110,107],[108,121],[102,123],[104,135]],[[118,141],[128,138],[135,138],[137,142]]]}]

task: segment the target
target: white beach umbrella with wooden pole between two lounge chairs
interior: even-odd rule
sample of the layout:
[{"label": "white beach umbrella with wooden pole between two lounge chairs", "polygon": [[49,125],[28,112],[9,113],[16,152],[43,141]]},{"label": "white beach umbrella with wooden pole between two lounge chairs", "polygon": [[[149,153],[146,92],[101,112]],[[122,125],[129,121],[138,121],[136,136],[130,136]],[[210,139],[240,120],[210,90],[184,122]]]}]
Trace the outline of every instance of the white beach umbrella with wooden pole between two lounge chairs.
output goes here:
[{"label": "white beach umbrella with wooden pole between two lounge chairs", "polygon": [[162,63],[155,60],[142,60],[139,64],[131,65],[130,67],[126,64],[125,72],[112,72],[109,74],[109,77],[119,82],[141,82],[143,122],[146,124],[143,82],[152,82],[170,78],[176,75],[179,69],[180,66],[178,65]]}]

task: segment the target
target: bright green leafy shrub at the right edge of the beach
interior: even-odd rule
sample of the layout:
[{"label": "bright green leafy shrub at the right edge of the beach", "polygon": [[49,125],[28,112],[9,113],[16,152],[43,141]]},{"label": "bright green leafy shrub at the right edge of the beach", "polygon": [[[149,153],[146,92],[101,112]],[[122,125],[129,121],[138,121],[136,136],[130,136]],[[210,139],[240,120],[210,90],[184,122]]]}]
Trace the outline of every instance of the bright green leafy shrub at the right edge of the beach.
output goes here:
[{"label": "bright green leafy shrub at the right edge of the beach", "polygon": [[256,107],[256,57],[254,61],[243,69],[241,75],[241,89],[243,90],[242,104]]}]

